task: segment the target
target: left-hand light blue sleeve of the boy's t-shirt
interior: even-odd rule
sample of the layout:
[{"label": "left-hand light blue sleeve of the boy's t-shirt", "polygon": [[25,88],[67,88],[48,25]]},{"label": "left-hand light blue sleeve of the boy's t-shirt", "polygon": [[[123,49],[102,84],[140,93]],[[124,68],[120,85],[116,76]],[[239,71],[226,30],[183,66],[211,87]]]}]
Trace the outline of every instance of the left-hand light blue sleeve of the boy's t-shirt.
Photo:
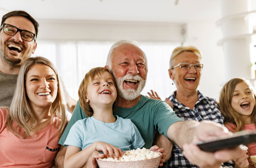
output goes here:
[{"label": "left-hand light blue sleeve of the boy's t-shirt", "polygon": [[64,146],[68,145],[76,146],[82,148],[83,140],[83,123],[84,120],[77,121],[70,129],[67,139],[64,142]]}]

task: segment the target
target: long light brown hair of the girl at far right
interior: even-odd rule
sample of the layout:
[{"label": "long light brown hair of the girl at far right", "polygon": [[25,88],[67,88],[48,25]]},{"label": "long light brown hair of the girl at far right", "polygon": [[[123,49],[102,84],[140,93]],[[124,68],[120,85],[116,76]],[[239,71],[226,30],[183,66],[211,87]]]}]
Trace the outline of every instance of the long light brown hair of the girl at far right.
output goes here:
[{"label": "long light brown hair of the girl at far right", "polygon": [[[244,127],[241,115],[238,112],[236,112],[231,106],[235,87],[237,86],[237,84],[241,82],[245,82],[247,85],[249,85],[249,87],[252,88],[252,92],[256,98],[255,90],[253,90],[253,87],[249,83],[249,81],[245,80],[244,78],[233,78],[232,80],[228,81],[220,91],[219,108],[224,116],[224,123],[230,122],[237,126],[237,128],[233,128],[234,129],[233,132],[241,131],[243,130],[243,127]],[[253,107],[251,119],[253,123],[256,124],[256,106],[255,105]]]}]

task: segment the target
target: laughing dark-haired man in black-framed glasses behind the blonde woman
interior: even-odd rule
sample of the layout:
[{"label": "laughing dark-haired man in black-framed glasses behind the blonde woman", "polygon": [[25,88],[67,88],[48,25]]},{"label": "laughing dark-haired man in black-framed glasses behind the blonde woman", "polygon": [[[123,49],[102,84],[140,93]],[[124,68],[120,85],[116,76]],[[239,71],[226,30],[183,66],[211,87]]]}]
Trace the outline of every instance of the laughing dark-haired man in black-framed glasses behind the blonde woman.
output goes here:
[{"label": "laughing dark-haired man in black-framed glasses behind the blonde woman", "polygon": [[[25,11],[6,13],[0,26],[0,106],[10,106],[19,70],[24,60],[36,50],[39,24]],[[76,101],[65,90],[68,107]]]}]

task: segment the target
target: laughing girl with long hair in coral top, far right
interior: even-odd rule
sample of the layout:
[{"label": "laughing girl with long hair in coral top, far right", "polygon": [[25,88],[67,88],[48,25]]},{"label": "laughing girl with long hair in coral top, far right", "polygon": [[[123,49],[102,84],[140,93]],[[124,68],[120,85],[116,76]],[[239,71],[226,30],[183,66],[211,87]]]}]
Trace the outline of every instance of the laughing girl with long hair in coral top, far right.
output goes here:
[{"label": "laughing girl with long hair in coral top, far right", "polygon": [[[233,78],[220,91],[219,108],[224,116],[225,126],[232,132],[256,130],[255,90],[249,81]],[[248,144],[245,157],[256,155],[256,143]],[[248,158],[250,167],[252,161]]]}]

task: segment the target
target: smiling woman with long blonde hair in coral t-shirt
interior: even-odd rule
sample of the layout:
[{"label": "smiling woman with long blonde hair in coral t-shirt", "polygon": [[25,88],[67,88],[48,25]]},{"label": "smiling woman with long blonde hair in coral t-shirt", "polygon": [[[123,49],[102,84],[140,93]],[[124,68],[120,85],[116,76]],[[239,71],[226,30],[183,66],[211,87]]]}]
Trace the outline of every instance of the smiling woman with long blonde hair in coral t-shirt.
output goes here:
[{"label": "smiling woman with long blonde hair in coral t-shirt", "polygon": [[56,68],[46,58],[25,60],[10,108],[0,108],[0,165],[52,167],[65,129],[65,102]]}]

